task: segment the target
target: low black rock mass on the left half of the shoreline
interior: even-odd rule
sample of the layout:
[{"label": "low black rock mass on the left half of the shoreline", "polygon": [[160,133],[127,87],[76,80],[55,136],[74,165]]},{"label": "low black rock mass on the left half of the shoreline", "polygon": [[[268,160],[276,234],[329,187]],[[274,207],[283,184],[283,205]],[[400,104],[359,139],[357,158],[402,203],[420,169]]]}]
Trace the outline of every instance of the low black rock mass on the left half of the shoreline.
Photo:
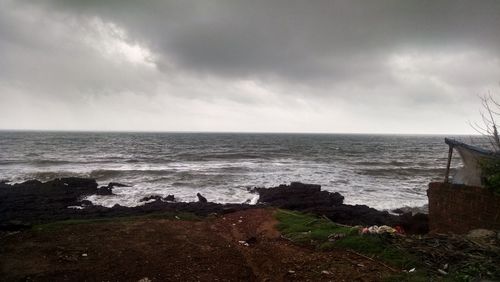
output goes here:
[{"label": "low black rock mass on the left half of the shoreline", "polygon": [[[93,179],[28,181],[13,185],[4,183],[0,184],[0,188],[2,188],[0,189],[0,226],[5,226],[6,229],[14,228],[15,225],[9,223],[12,220],[27,225],[54,220],[135,216],[158,212],[189,212],[198,216],[206,216],[255,207],[244,204],[172,202],[171,200],[175,200],[175,197],[168,195],[163,198],[163,201],[154,201],[142,206],[115,205],[112,208],[106,208],[81,200],[86,195],[96,194],[97,183]],[[85,208],[68,209],[68,206],[84,206]]]}]

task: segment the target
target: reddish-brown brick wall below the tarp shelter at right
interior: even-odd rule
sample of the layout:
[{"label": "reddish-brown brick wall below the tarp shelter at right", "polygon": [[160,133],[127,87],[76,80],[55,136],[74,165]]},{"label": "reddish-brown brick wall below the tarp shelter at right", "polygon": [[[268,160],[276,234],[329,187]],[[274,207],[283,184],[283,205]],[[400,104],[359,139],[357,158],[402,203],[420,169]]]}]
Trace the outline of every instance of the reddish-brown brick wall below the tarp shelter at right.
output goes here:
[{"label": "reddish-brown brick wall below the tarp shelter at right", "polygon": [[500,196],[481,187],[432,182],[429,229],[437,233],[466,233],[476,228],[500,230]]}]

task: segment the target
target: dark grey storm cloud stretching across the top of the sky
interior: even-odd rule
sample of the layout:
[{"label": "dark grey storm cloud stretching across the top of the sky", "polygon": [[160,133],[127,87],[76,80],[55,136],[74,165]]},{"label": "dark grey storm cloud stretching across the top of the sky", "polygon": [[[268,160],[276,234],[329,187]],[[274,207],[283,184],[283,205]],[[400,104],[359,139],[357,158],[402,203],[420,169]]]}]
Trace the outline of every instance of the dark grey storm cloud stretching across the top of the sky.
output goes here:
[{"label": "dark grey storm cloud stretching across the top of the sky", "polygon": [[498,1],[54,2],[61,6],[125,26],[160,65],[165,55],[222,76],[335,81],[373,73],[405,48],[500,50]]}]

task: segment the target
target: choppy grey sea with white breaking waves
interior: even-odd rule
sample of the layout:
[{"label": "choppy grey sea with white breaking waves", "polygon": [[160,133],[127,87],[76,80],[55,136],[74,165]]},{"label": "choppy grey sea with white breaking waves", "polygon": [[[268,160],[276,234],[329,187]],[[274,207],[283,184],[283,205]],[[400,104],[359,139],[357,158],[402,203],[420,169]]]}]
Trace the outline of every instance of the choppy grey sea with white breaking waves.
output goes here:
[{"label": "choppy grey sea with white breaking waves", "polygon": [[144,204],[149,195],[196,201],[198,192],[218,203],[255,203],[252,188],[298,181],[339,192],[347,204],[391,210],[427,203],[428,183],[444,178],[444,137],[0,131],[0,180],[78,176],[128,185],[88,197],[107,207]]}]

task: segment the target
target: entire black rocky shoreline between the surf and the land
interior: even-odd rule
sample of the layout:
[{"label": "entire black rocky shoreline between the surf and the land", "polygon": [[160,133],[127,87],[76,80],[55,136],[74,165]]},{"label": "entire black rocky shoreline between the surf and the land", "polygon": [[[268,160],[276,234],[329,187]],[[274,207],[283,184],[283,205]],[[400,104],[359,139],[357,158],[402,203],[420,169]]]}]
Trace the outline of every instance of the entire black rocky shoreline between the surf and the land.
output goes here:
[{"label": "entire black rocky shoreline between the surf and the land", "polygon": [[[255,188],[259,194],[256,205],[219,204],[206,201],[199,195],[198,202],[176,202],[175,195],[168,197],[145,197],[144,205],[111,208],[93,205],[83,200],[85,196],[112,195],[113,187],[123,184],[109,183],[98,187],[95,179],[60,178],[47,182],[30,180],[8,184],[0,182],[0,230],[12,231],[29,228],[33,224],[56,220],[90,219],[146,215],[158,212],[190,212],[200,216],[225,214],[251,208],[271,206],[283,209],[310,212],[347,225],[399,225],[408,233],[428,232],[425,214],[401,215],[379,211],[365,205],[346,205],[339,193],[322,191],[320,185],[292,182],[271,188]],[[75,207],[75,208],[68,208]]]}]

